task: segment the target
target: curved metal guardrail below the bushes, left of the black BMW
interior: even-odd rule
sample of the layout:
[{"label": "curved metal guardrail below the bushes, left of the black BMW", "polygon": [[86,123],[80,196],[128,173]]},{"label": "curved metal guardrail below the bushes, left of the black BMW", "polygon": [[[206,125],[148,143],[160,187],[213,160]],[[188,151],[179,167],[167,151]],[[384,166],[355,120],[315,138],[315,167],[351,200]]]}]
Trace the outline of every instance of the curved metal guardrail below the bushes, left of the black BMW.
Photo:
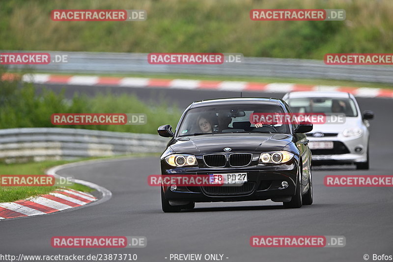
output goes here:
[{"label": "curved metal guardrail below the bushes, left of the black BMW", "polygon": [[73,128],[12,128],[0,130],[0,161],[6,163],[162,152],[168,139]]}]

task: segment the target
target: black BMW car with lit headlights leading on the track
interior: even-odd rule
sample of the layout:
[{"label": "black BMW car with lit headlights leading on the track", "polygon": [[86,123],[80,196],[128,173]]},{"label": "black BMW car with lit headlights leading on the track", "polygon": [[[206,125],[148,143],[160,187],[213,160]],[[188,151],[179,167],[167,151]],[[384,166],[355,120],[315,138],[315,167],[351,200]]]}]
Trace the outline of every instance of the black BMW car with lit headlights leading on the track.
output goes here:
[{"label": "black BMW car with lit headlights leading on the track", "polygon": [[[161,156],[164,175],[208,176],[211,184],[162,184],[164,212],[196,202],[272,200],[284,207],[312,204],[310,122],[260,123],[258,114],[291,114],[275,98],[226,98],[192,103]],[[254,118],[256,117],[256,118]],[[254,121],[256,119],[256,121]],[[215,180],[220,177],[220,183]]]}]

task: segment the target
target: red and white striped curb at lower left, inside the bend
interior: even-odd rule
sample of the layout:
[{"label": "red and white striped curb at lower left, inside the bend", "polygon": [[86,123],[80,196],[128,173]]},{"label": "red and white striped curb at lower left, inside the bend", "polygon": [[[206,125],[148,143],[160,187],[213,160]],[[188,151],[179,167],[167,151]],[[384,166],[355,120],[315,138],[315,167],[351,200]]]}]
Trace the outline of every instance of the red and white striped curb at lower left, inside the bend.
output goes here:
[{"label": "red and white striped curb at lower left, inside the bend", "polygon": [[0,219],[49,214],[96,201],[91,194],[73,189],[57,189],[49,194],[15,202],[0,203]]}]

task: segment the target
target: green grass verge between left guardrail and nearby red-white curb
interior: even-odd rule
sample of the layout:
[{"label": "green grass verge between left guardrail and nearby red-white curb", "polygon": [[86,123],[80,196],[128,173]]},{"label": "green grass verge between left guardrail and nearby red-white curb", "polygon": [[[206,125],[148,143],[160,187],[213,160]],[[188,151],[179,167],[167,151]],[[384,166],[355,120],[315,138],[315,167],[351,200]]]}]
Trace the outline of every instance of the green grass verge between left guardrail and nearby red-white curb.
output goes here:
[{"label": "green grass verge between left guardrail and nearby red-white curb", "polygon": [[[140,154],[132,154],[130,156],[134,157],[144,157],[144,156],[158,156],[156,153],[140,153]],[[117,157],[105,157],[102,159],[112,159]],[[15,164],[5,164],[0,163],[0,174],[2,175],[44,175],[45,171],[53,166],[63,165],[67,163],[72,163],[81,160],[92,160],[97,158],[84,158],[74,161],[43,161],[43,162],[30,162],[30,163],[15,163]],[[0,175],[1,176],[1,175]],[[83,191],[83,192],[92,192],[94,189],[74,183],[71,186],[67,186],[68,188]],[[0,186],[0,203],[3,202],[13,202],[21,199],[26,199],[31,196],[43,195],[47,194],[55,189],[59,188],[58,186]]]}]

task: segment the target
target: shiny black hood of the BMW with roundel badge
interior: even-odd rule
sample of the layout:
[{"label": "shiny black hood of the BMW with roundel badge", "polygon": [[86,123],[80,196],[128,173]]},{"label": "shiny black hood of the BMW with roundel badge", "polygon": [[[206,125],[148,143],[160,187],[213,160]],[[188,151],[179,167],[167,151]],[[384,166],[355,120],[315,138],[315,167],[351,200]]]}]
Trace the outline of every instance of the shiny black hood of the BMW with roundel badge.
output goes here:
[{"label": "shiny black hood of the BMW with roundel badge", "polygon": [[291,135],[285,134],[255,134],[231,133],[209,134],[174,139],[170,147],[175,153],[210,154],[225,153],[224,148],[230,147],[229,152],[258,153],[271,150],[281,150],[292,141]]}]

